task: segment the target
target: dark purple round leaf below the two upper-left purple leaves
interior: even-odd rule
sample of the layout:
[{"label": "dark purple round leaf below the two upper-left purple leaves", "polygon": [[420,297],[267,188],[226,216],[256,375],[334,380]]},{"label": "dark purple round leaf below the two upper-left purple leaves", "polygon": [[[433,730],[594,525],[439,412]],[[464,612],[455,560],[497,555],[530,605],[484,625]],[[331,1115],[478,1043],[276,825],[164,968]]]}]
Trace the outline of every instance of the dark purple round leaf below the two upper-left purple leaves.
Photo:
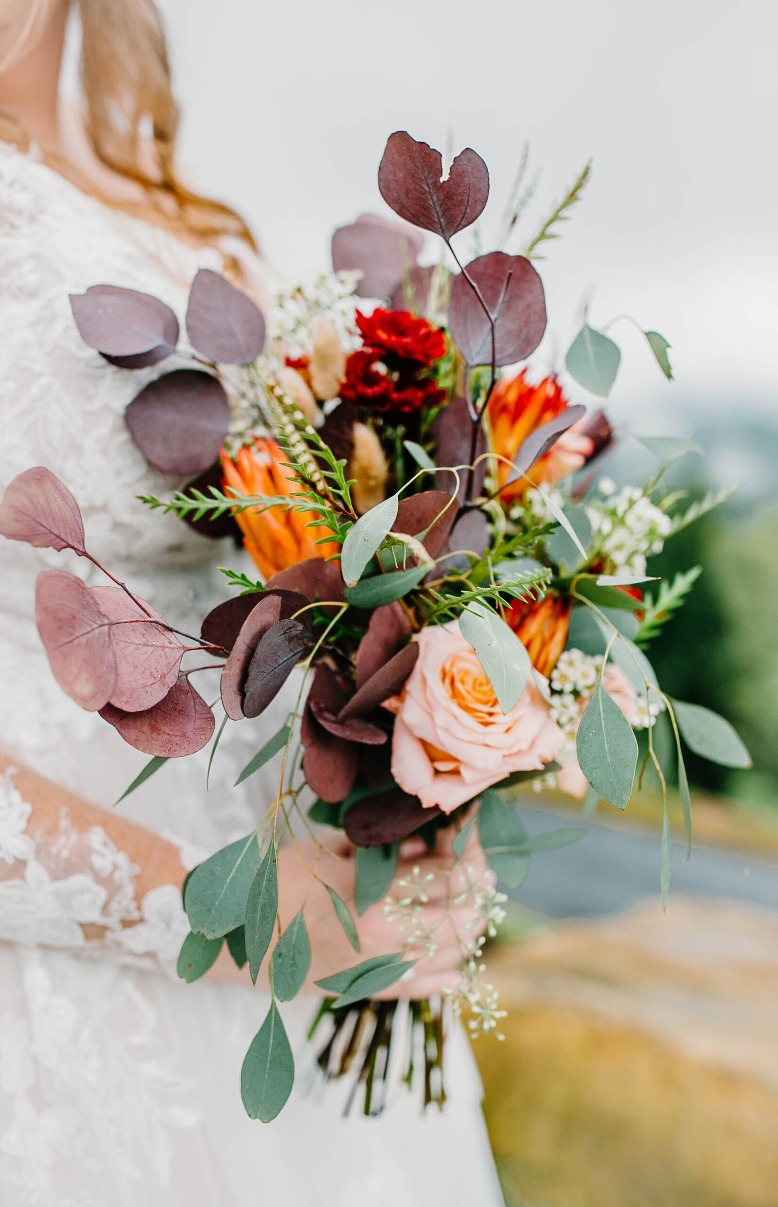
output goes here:
[{"label": "dark purple round leaf below the two upper-left purple leaves", "polygon": [[209,470],[229,430],[229,402],[210,373],[175,369],[151,381],[127,408],[127,426],[163,473]]}]

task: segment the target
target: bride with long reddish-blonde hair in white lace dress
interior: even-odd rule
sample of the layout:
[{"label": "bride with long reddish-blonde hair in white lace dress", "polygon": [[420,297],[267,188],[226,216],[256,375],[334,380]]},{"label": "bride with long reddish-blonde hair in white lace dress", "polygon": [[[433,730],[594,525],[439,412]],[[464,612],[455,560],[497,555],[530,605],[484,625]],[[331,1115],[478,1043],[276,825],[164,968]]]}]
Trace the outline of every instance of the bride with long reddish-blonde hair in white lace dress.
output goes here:
[{"label": "bride with long reddish-blonde hair in white lace dress", "polygon": [[[71,113],[58,94],[68,0],[0,0],[0,489],[48,466],[76,495],[95,555],[186,630],[224,597],[216,567],[234,550],[135,500],[180,485],[148,467],[122,418],[157,371],[100,360],[81,342],[68,295],[109,281],[181,316],[198,268],[232,275],[261,304],[262,269],[242,220],[176,174],[177,111],[152,0],[78,7],[83,106]],[[4,1207],[501,1202],[457,1031],[443,1114],[422,1115],[402,1090],[379,1120],[344,1120],[314,1077],[305,1030],[316,999],[302,997],[283,1009],[293,1097],[268,1126],[247,1119],[240,1065],[267,998],[229,957],[191,986],[176,980],[175,960],[188,929],[186,870],[252,828],[271,791],[259,776],[232,787],[257,734],[220,746],[210,791],[203,758],[172,759],[113,807],[145,758],[60,692],[34,619],[39,570],[83,576],[83,565],[6,541],[0,558]],[[400,874],[434,865],[417,842],[402,852]],[[287,862],[296,911],[309,882]],[[352,859],[332,858],[326,879],[352,894]],[[347,967],[345,937],[314,894],[306,919],[311,981]],[[364,955],[397,945],[380,905],[359,933]],[[455,982],[452,961],[444,949],[400,991],[425,997]]]}]

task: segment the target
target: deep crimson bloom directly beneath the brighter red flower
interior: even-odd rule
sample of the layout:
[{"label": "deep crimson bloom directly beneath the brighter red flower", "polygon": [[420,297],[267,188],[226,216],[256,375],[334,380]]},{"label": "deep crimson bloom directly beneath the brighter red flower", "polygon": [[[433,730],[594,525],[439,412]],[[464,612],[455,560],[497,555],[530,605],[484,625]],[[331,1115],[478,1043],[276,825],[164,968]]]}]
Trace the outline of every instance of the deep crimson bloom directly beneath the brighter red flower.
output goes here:
[{"label": "deep crimson bloom directly beneath the brighter red flower", "polygon": [[346,361],[346,380],[340,387],[340,397],[355,407],[404,415],[444,402],[445,390],[438,389],[434,378],[423,375],[417,362],[400,362],[397,368],[387,363],[388,360],[384,351],[375,348],[361,348],[352,352]]}]

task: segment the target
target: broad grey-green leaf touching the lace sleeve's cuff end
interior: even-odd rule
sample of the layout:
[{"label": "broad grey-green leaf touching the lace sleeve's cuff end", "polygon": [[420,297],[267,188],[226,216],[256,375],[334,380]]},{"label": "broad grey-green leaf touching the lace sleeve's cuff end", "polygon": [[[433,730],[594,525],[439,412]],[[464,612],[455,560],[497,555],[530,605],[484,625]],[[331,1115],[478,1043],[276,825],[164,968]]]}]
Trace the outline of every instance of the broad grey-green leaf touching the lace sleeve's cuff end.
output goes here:
[{"label": "broad grey-green leaf touching the lace sleeve's cuff end", "polygon": [[253,832],[194,868],[186,886],[186,911],[195,934],[217,939],[242,925],[258,867],[259,847]]}]

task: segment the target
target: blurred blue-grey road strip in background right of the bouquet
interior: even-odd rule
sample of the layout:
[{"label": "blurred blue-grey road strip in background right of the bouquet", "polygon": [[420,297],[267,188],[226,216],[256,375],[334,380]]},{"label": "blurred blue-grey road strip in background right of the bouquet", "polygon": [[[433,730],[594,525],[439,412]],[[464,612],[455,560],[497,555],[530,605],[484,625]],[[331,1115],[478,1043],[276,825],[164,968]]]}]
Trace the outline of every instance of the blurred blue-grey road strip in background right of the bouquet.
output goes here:
[{"label": "blurred blue-grey road strip in background right of the bouquet", "polygon": [[[520,806],[527,832],[575,826],[586,834],[572,846],[532,856],[530,874],[510,897],[549,917],[603,917],[659,896],[657,834],[603,824],[567,810]],[[695,844],[686,862],[673,844],[671,894],[715,897],[778,910],[778,864]]]}]

